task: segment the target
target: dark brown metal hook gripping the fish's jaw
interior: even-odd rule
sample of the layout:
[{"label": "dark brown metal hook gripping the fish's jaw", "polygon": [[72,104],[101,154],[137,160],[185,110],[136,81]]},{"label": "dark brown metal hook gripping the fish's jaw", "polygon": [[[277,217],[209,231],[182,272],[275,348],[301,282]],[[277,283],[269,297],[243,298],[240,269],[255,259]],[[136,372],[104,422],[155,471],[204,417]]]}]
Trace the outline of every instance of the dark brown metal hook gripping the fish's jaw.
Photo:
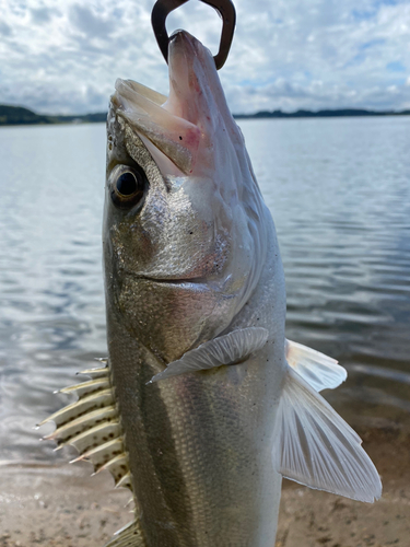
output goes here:
[{"label": "dark brown metal hook gripping the fish's jaw", "polygon": [[[157,0],[152,9],[151,24],[154,30],[156,42],[160,46],[162,55],[166,62],[168,62],[168,43],[169,36],[166,32],[165,20],[167,15],[183,5],[188,0]],[[220,42],[220,49],[218,54],[213,57],[216,70],[222,68],[226,61],[227,54],[231,49],[232,38],[235,31],[236,12],[232,0],[201,0],[201,2],[207,3],[214,8],[222,16],[222,34]]]}]

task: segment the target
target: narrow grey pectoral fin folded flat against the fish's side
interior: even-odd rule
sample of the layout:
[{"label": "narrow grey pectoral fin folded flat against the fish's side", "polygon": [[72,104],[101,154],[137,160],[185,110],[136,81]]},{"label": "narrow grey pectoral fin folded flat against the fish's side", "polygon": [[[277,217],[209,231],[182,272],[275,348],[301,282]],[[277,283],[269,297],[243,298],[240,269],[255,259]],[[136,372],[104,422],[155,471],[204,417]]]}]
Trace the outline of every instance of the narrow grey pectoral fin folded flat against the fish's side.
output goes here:
[{"label": "narrow grey pectoral fin folded flat against the fish's side", "polygon": [[268,336],[268,330],[261,327],[233,330],[187,351],[180,359],[169,363],[163,372],[155,374],[150,383],[186,372],[203,371],[222,364],[236,364],[247,359],[254,351],[261,349]]}]

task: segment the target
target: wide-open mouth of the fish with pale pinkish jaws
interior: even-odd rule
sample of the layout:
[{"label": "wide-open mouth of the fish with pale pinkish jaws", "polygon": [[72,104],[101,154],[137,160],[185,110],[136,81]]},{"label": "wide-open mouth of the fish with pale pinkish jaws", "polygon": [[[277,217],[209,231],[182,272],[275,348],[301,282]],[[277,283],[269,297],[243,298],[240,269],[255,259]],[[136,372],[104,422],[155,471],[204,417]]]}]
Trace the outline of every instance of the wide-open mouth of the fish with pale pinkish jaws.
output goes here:
[{"label": "wide-open mouth of the fish with pale pinkish jaws", "polygon": [[199,40],[178,31],[169,40],[168,62],[167,98],[131,80],[117,80],[113,102],[140,135],[163,175],[213,178],[215,168],[221,171],[230,163],[227,142],[246,155],[214,60]]}]

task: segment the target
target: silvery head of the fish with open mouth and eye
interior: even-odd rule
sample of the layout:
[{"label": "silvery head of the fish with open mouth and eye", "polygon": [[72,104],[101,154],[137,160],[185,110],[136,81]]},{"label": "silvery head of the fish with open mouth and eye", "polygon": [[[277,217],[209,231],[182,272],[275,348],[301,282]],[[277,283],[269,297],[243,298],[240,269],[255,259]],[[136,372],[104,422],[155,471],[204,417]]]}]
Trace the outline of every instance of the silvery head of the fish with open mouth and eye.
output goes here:
[{"label": "silvery head of the fish with open mouth and eye", "polygon": [[245,305],[270,218],[210,51],[180,31],[168,63],[168,97],[116,82],[103,238],[108,313],[165,361]]}]

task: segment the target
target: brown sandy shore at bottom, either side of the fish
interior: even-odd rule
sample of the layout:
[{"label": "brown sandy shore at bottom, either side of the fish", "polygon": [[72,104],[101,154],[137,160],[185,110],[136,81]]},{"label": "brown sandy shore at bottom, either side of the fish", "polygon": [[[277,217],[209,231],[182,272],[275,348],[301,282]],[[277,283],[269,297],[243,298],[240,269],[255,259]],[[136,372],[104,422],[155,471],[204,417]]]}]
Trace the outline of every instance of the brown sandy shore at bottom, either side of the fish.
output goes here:
[{"label": "brown sandy shore at bottom, either side of the fish", "polygon": [[[409,547],[410,438],[401,429],[359,433],[382,475],[374,504],[284,481],[276,547]],[[0,547],[103,547],[132,520],[126,490],[86,464],[0,466]]]}]

